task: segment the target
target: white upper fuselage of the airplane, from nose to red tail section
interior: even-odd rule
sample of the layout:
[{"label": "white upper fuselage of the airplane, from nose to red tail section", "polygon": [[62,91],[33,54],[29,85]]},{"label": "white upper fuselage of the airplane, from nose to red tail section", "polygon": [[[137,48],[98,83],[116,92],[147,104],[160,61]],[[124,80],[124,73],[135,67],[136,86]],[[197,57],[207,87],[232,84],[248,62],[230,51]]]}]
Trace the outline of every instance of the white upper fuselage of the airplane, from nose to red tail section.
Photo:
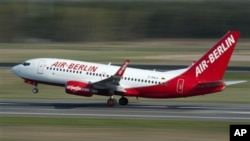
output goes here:
[{"label": "white upper fuselage of the airplane, from nose to red tail section", "polygon": [[[12,70],[18,71],[16,74],[24,79],[55,85],[65,85],[70,80],[94,83],[110,77],[119,69],[119,66],[110,64],[56,58],[37,58],[27,60],[26,62],[29,65],[20,64],[13,67]],[[120,86],[135,88],[158,85],[179,76],[186,70],[158,72],[154,70],[127,68],[120,81]]]}]

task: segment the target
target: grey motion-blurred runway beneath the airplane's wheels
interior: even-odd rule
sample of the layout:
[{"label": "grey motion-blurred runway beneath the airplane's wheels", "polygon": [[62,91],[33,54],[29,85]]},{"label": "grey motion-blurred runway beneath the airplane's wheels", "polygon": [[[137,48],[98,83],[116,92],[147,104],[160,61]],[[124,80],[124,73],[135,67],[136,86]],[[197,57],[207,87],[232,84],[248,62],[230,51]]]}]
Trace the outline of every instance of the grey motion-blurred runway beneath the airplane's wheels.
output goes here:
[{"label": "grey motion-blurred runway beneath the airplane's wheels", "polygon": [[0,107],[1,116],[250,122],[250,104],[134,102],[108,107],[105,102],[0,100]]}]

